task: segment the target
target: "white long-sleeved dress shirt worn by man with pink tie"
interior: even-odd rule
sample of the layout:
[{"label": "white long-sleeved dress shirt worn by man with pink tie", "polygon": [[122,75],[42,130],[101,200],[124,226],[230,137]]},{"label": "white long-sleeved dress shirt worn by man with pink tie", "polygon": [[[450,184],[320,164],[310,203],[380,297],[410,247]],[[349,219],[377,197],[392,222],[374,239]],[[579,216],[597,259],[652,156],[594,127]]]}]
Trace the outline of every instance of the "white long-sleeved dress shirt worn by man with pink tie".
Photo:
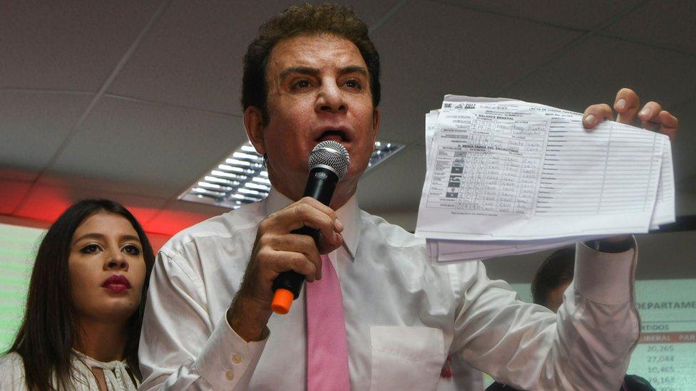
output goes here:
[{"label": "white long-sleeved dress shirt worn by man with pink tie", "polygon": [[[271,316],[260,342],[242,340],[225,318],[258,224],[290,202],[274,189],[163,246],[140,337],[142,389],[305,390],[304,290],[290,313]],[[578,245],[556,315],[489,280],[481,262],[429,263],[423,239],[362,212],[355,197],[337,214],[344,246],[329,259],[341,282],[353,390],[435,390],[448,353],[522,389],[620,387],[639,332],[635,249]]]}]

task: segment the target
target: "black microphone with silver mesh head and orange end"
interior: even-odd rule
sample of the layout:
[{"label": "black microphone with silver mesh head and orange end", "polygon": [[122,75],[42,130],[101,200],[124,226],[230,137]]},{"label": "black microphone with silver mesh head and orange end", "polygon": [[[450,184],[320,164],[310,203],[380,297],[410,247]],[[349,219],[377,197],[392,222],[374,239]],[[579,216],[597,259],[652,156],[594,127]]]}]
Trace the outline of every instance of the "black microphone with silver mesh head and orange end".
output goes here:
[{"label": "black microphone with silver mesh head and orange end", "polygon": [[[312,197],[324,205],[329,205],[338,181],[348,172],[350,157],[341,143],[327,140],[317,144],[309,154],[309,178],[305,185],[305,197]],[[319,246],[321,233],[317,229],[303,226],[292,231],[293,234],[312,236]],[[290,311],[292,301],[300,296],[305,276],[295,271],[284,271],[273,281],[273,301],[271,309],[282,315]]]}]

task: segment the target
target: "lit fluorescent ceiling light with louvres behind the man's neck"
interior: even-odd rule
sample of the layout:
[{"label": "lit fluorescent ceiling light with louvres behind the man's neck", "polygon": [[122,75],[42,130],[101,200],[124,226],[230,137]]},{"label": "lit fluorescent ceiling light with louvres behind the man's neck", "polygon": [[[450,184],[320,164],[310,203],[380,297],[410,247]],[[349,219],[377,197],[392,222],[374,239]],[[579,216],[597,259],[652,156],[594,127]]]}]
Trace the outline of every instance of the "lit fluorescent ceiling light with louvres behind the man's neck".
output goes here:
[{"label": "lit fluorescent ceiling light with louvres behind the man's neck", "polygon": [[[372,170],[404,146],[396,142],[374,142],[374,152],[370,157],[367,170]],[[270,189],[271,182],[263,165],[263,157],[249,142],[245,142],[178,198],[237,209],[243,204],[266,198]]]}]

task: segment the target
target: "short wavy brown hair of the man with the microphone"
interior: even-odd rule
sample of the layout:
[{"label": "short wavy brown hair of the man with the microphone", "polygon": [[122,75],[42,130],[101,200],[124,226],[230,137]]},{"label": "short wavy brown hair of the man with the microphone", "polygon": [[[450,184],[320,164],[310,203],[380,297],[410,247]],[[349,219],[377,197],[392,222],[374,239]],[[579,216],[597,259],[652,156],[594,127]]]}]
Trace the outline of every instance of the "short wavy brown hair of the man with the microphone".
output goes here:
[{"label": "short wavy brown hair of the man with the microphone", "polygon": [[346,38],[357,46],[369,73],[372,107],[379,105],[379,53],[369,38],[367,25],[352,9],[337,4],[302,4],[273,16],[259,28],[244,56],[242,76],[242,110],[255,106],[261,110],[263,125],[269,120],[266,68],[273,47],[284,38],[302,34],[329,33]]}]

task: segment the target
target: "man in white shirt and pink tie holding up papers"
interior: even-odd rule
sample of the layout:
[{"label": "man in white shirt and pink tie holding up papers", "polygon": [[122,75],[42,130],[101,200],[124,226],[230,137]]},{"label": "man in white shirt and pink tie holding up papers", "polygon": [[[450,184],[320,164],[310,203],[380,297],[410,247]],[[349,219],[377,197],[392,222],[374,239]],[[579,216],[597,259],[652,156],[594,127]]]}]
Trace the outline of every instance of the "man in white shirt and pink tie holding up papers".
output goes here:
[{"label": "man in white shirt and pink tie holding up papers", "polygon": [[[245,56],[242,106],[273,189],[161,249],[140,343],[143,389],[431,390],[448,353],[523,388],[618,386],[638,338],[633,241],[615,239],[623,252],[610,255],[578,246],[576,286],[558,317],[516,301],[480,262],[429,264],[423,240],[357,207],[378,105],[379,56],[352,12],[304,5],[262,26]],[[676,130],[657,103],[645,107],[641,120]],[[633,121],[638,97],[622,90],[615,108]],[[590,106],[585,124],[611,117],[608,105]],[[322,140],[351,157],[330,207],[302,198]],[[318,248],[292,234],[303,225],[321,231]],[[272,281],[291,269],[305,288],[290,313],[272,314]],[[335,302],[315,293],[336,284],[344,312],[317,319],[317,306]]]}]

